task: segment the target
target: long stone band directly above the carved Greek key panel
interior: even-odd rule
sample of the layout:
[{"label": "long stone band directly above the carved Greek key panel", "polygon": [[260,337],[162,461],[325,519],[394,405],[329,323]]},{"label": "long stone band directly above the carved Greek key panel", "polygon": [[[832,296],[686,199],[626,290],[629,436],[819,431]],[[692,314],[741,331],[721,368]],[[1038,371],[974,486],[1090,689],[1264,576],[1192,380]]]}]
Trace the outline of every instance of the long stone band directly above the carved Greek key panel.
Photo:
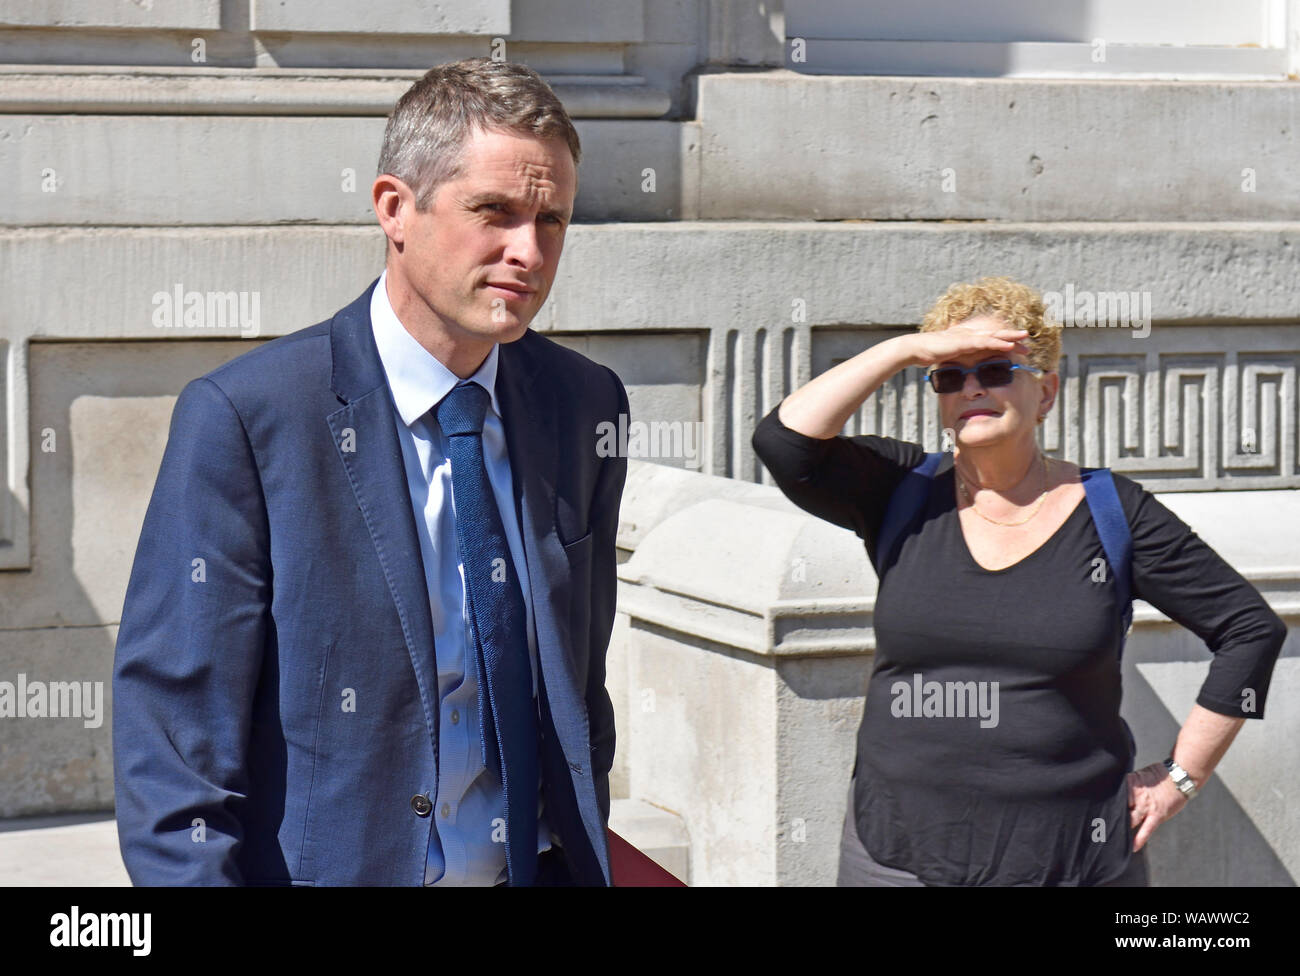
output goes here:
[{"label": "long stone band directly above the carved Greek key panel", "polygon": [[[343,225],[0,226],[0,252],[12,272],[0,292],[8,335],[22,322],[58,338],[160,338],[150,295],[179,281],[263,290],[265,337],[356,298],[382,269],[382,234],[373,214]],[[750,330],[789,324],[798,296],[814,327],[905,326],[950,282],[992,272],[1040,289],[1149,290],[1153,317],[1171,327],[1295,322],[1300,222],[575,224],[533,327]],[[166,338],[195,338],[182,331]]]}]

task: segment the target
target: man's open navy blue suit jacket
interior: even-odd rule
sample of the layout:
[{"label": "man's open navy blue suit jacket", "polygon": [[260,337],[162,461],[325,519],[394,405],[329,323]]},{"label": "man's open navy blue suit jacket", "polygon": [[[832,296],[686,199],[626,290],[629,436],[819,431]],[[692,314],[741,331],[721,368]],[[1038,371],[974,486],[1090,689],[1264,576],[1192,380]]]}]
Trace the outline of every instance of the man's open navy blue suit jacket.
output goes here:
[{"label": "man's open navy blue suit jacket", "polygon": [[[373,289],[176,403],[113,668],[135,884],[424,884],[436,649]],[[627,413],[627,392],[529,330],[500,346],[497,394],[537,626],[547,820],[567,880],[608,884],[604,652],[627,460],[598,456],[597,430]]]}]

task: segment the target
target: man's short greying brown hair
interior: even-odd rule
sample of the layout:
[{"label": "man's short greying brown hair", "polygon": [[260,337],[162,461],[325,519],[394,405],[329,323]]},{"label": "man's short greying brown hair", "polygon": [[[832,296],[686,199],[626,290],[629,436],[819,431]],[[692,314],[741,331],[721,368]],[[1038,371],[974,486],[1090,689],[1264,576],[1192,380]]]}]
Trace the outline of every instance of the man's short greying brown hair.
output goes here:
[{"label": "man's short greying brown hair", "polygon": [[474,130],[506,130],[540,139],[559,136],[576,166],[577,130],[542,77],[526,65],[473,57],[438,65],[398,99],[384,130],[378,175],[394,175],[428,211],[438,187],[462,175]]}]

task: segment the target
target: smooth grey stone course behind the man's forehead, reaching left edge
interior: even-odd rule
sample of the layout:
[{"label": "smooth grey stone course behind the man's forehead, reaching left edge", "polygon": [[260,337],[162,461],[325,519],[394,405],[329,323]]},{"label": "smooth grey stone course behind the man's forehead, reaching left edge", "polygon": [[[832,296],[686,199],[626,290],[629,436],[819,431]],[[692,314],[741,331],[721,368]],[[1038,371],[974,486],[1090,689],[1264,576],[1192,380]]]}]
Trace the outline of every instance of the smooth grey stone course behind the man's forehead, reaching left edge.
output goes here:
[{"label": "smooth grey stone course behind the man's forehead, reaching left edge", "polygon": [[[13,186],[0,222],[372,225],[369,190],[386,110],[0,114],[0,170],[12,173]],[[576,129],[584,149],[577,220],[694,216],[694,123],[578,118]]]}]

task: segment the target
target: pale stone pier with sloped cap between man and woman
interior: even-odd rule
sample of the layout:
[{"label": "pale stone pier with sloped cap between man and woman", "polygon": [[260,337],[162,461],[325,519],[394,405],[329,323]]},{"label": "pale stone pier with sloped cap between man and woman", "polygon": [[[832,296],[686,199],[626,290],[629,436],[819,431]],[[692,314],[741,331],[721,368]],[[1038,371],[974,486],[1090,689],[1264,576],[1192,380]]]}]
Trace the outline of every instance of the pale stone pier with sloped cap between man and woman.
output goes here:
[{"label": "pale stone pier with sloped cap between man and woman", "polygon": [[776,489],[645,464],[624,520],[630,797],[685,821],[692,884],[833,884],[872,641],[861,541]]}]

